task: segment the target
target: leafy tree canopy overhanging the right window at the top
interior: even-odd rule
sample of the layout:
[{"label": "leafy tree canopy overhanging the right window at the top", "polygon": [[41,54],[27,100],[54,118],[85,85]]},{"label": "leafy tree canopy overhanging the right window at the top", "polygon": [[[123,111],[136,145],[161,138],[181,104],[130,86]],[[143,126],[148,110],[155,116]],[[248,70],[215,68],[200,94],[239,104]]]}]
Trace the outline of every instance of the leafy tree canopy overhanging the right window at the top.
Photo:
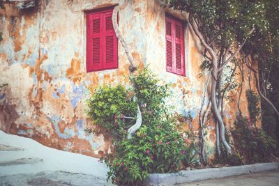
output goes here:
[{"label": "leafy tree canopy overhanging the right window at the top", "polygon": [[209,42],[220,47],[240,44],[255,26],[264,33],[269,24],[264,17],[264,1],[248,0],[165,0],[167,5],[185,10],[197,22]]}]

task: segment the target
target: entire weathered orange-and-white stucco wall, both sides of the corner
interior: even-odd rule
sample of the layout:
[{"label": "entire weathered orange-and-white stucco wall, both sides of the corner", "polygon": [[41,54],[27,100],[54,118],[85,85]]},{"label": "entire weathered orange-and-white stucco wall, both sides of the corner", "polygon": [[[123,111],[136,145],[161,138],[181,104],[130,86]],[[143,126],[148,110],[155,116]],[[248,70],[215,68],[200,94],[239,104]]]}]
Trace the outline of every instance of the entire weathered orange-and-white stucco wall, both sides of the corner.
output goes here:
[{"label": "entire weathered orange-and-white stucco wall, both sides of the corner", "polygon": [[[86,73],[85,10],[114,6],[123,1],[45,1],[37,8],[18,10],[16,3],[0,10],[0,84],[8,83],[0,93],[0,129],[31,137],[40,143],[98,157],[110,151],[107,134],[86,136],[84,129],[93,127],[87,118],[86,98],[100,84],[130,86],[128,60],[119,43],[119,68]],[[199,78],[202,47],[189,26],[185,29],[186,77],[165,71],[165,11],[181,20],[183,13],[167,10],[158,1],[130,1],[119,12],[119,28],[135,62],[149,65],[163,82],[172,84],[173,97],[168,104],[177,114],[193,117],[198,130],[202,93],[208,73]],[[248,78],[248,70],[245,70]],[[235,79],[241,82],[240,78]],[[248,88],[248,79],[244,86]],[[238,99],[239,89],[229,93]],[[206,102],[209,101],[206,95]],[[245,88],[241,102],[246,101]],[[236,102],[225,102],[227,127],[236,116]],[[247,113],[246,104],[241,111]],[[209,120],[211,121],[211,120]],[[181,121],[183,128],[189,123]],[[206,148],[215,149],[215,124],[206,123]]]}]

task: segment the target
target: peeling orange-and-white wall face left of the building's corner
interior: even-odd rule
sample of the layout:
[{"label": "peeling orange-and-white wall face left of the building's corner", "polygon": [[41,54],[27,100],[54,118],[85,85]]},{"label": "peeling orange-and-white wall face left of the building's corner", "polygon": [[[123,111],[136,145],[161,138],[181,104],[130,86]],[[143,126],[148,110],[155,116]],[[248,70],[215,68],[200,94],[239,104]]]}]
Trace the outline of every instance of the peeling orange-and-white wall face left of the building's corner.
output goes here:
[{"label": "peeling orange-and-white wall face left of the building's corner", "polygon": [[[1,130],[41,144],[98,157],[110,151],[107,134],[86,136],[92,127],[86,98],[100,84],[128,84],[128,60],[119,45],[119,68],[86,73],[84,10],[122,1],[40,1],[38,10],[1,10]],[[145,1],[119,12],[119,28],[136,63],[145,63]],[[138,24],[133,24],[137,22]]]}]

